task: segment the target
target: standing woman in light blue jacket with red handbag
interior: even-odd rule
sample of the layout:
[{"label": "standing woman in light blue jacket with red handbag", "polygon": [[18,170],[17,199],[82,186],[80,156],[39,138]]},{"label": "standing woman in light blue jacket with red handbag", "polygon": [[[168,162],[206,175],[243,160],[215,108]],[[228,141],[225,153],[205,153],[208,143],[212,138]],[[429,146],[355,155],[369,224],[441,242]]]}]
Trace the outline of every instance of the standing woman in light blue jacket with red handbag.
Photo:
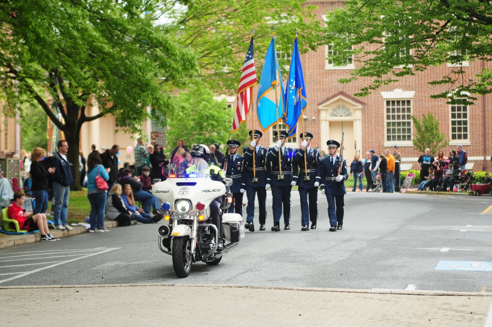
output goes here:
[{"label": "standing woman in light blue jacket with red handbag", "polygon": [[109,229],[104,227],[107,191],[101,191],[96,187],[95,178],[99,175],[107,182],[109,179],[108,172],[111,168],[104,168],[101,157],[98,154],[93,154],[89,158],[89,163],[87,164],[89,168],[87,171],[87,197],[91,203],[91,213],[89,215],[91,227],[89,232],[109,231]]}]

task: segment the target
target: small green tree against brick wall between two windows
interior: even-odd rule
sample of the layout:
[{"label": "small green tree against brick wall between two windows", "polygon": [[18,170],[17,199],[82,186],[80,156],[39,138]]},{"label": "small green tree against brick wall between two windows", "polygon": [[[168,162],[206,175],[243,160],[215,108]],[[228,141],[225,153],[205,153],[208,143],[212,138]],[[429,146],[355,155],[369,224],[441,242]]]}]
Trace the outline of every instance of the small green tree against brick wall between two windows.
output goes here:
[{"label": "small green tree against brick wall between two windows", "polygon": [[432,113],[422,116],[422,122],[415,116],[411,116],[413,125],[417,131],[412,137],[412,143],[415,150],[425,152],[425,149],[431,149],[431,153],[445,148],[449,144],[446,135],[439,131],[439,120],[434,120]]}]

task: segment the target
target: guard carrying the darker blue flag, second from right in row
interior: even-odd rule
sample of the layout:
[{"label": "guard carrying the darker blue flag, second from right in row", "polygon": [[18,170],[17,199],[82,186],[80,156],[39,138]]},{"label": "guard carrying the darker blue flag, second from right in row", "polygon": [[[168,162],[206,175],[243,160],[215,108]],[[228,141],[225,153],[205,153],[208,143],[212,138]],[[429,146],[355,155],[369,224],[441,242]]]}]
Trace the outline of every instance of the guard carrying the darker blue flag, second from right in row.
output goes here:
[{"label": "guard carrying the darker blue flag, second from right in row", "polygon": [[[309,132],[301,133],[301,148],[294,156],[292,185],[299,186],[299,196],[301,196],[301,215],[303,226],[301,230],[316,229],[318,220],[318,186],[321,180],[321,155],[317,149],[311,149],[310,143],[312,134]],[[304,158],[306,157],[306,166]],[[307,167],[307,170],[306,170]],[[297,170],[299,169],[299,174]]]}]

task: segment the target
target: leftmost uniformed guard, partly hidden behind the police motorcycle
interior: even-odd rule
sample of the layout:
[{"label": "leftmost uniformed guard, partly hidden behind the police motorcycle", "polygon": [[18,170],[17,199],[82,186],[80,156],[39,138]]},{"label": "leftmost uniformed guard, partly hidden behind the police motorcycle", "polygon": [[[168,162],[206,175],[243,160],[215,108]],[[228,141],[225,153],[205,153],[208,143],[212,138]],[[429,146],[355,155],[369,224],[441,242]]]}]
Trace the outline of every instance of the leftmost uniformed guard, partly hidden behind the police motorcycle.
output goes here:
[{"label": "leftmost uniformed guard, partly hidden behind the police motorcycle", "polygon": [[[228,178],[232,178],[231,193],[234,196],[234,205],[231,205],[227,212],[229,213],[239,213],[243,215],[243,193],[241,193],[241,188],[243,187],[243,161],[244,157],[238,155],[238,149],[241,146],[241,142],[237,140],[228,140],[227,146],[229,147],[229,155],[222,157],[222,162],[220,163],[220,168],[224,169],[225,175]],[[227,162],[226,162],[227,159]]]}]

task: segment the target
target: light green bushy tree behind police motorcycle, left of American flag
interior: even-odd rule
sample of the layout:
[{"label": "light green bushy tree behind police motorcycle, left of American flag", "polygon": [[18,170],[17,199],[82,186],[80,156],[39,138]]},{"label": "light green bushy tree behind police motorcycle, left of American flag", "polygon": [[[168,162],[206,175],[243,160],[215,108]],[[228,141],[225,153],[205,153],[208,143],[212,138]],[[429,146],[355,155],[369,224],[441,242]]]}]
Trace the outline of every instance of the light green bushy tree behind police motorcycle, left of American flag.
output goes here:
[{"label": "light green bushy tree behind police motorcycle, left of American flag", "polygon": [[[171,145],[179,139],[191,144],[225,144],[229,139],[234,112],[226,108],[225,100],[214,99],[214,93],[206,88],[182,92],[179,101],[186,107],[174,116],[167,116],[166,141]],[[190,149],[191,150],[191,149]]]}]

